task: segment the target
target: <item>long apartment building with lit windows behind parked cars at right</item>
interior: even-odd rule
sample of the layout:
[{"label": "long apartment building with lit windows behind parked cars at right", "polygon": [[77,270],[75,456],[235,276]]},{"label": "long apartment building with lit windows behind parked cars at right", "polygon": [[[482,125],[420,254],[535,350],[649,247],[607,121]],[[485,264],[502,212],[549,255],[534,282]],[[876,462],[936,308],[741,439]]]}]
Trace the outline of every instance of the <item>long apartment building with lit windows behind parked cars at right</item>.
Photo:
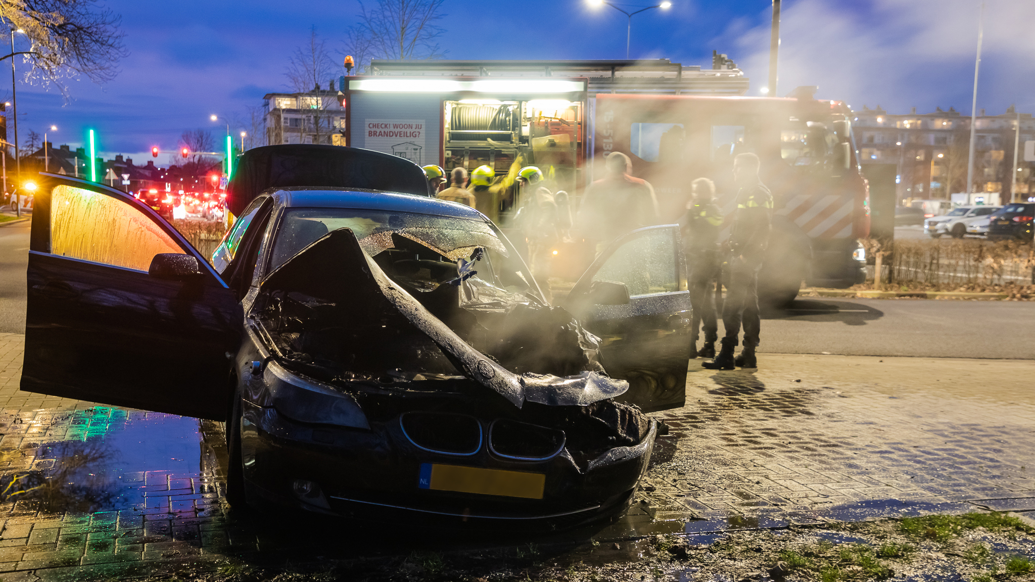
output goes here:
[{"label": "long apartment building with lit windows behind parked cars at right", "polygon": [[[1027,200],[1035,196],[1033,164],[1024,161],[1025,142],[1035,140],[1035,119],[1011,106],[1001,115],[980,110],[975,119],[974,188],[998,192],[1000,200]],[[854,112],[853,127],[859,161],[893,164],[897,168],[896,193],[907,198],[942,198],[968,192],[967,166],[970,148],[969,115],[954,108],[931,113],[888,113],[877,106]],[[1011,192],[1013,144],[1019,119],[1016,192]]]}]

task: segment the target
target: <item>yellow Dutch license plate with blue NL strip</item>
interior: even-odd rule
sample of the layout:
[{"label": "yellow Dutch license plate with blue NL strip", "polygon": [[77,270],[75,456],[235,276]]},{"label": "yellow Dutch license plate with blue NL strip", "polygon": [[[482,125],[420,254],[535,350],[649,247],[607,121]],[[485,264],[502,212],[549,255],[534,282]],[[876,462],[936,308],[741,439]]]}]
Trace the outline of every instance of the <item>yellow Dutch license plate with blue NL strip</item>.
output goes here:
[{"label": "yellow Dutch license plate with blue NL strip", "polygon": [[542,499],[545,483],[546,475],[543,473],[421,463],[417,487],[438,491]]}]

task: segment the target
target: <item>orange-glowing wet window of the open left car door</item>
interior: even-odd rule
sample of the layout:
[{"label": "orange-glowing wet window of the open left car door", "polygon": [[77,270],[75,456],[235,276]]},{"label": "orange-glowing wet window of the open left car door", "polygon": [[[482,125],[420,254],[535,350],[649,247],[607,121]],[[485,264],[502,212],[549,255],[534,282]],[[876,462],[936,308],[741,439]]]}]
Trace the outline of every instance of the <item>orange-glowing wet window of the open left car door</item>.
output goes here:
[{"label": "orange-glowing wet window of the open left car door", "polygon": [[147,271],[159,253],[186,253],[138,208],[60,184],[51,194],[51,254]]}]

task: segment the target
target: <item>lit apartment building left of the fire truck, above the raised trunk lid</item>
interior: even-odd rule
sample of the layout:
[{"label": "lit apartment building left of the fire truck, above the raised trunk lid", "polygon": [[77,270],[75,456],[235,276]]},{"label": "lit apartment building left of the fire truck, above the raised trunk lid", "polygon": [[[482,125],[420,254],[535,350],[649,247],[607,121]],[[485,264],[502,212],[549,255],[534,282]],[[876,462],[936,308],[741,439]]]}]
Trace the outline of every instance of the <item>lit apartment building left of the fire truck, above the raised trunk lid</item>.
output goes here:
[{"label": "lit apartment building left of the fire truck, above the raised trunk lid", "polygon": [[317,86],[306,93],[267,93],[265,100],[266,145],[345,145],[345,108],[334,82],[329,89]]}]

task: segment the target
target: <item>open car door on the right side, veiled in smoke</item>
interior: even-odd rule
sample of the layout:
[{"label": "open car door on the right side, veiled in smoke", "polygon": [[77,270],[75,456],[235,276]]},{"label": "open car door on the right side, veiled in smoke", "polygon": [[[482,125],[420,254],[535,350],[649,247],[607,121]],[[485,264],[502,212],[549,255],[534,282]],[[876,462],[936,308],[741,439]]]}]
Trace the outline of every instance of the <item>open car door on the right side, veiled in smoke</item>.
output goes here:
[{"label": "open car door on the right side, veiled in smoke", "polygon": [[[598,304],[598,282],[625,285],[624,304]],[[614,301],[611,301],[614,302]],[[629,382],[617,400],[652,412],[686,401],[690,295],[678,225],[634,230],[583,274],[565,304],[603,340],[603,367]]]}]

